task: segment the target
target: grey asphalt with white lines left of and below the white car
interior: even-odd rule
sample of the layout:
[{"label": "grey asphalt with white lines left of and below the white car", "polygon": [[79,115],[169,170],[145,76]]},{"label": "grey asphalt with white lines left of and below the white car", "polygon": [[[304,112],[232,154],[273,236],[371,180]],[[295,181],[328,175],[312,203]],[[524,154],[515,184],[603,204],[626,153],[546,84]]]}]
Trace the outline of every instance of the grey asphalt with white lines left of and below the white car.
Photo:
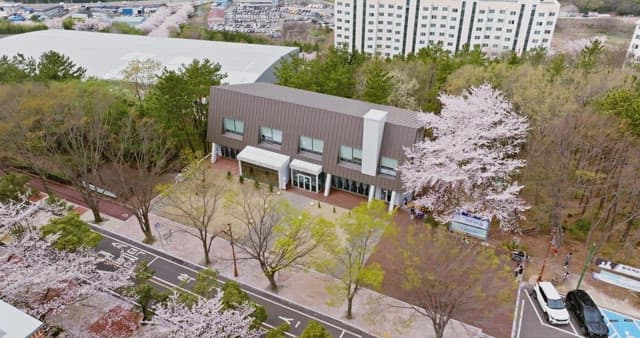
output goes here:
[{"label": "grey asphalt with white lines left of and below the white car", "polygon": [[570,338],[582,337],[578,332],[578,323],[570,315],[569,325],[550,325],[538,302],[531,296],[532,286],[520,287],[516,306],[515,338]]}]

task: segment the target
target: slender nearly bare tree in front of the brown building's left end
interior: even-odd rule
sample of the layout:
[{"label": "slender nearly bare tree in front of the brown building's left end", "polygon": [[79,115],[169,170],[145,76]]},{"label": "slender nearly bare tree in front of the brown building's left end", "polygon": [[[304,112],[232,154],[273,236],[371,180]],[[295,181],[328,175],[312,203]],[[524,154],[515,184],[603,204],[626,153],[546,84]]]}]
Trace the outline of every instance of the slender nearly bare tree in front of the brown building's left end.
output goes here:
[{"label": "slender nearly bare tree in front of the brown building's left end", "polygon": [[226,224],[215,222],[224,187],[212,180],[202,161],[193,162],[185,178],[182,184],[165,190],[163,195],[173,209],[170,213],[196,230],[195,234],[187,233],[200,240],[204,263],[208,266],[213,240],[227,229]]}]

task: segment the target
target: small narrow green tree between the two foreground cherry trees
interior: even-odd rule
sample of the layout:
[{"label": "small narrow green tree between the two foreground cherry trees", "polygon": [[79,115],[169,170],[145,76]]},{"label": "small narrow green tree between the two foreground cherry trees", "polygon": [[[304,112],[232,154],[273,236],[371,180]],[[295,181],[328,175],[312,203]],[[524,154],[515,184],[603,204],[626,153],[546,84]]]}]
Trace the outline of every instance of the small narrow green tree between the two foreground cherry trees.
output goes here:
[{"label": "small narrow green tree between the two foreground cherry trees", "polygon": [[153,278],[155,271],[149,267],[149,263],[146,261],[139,261],[133,273],[134,285],[127,288],[125,293],[135,298],[136,303],[138,303],[137,308],[142,313],[142,319],[148,321],[153,317],[154,304],[164,301],[169,294],[158,291],[151,284],[151,278]]}]

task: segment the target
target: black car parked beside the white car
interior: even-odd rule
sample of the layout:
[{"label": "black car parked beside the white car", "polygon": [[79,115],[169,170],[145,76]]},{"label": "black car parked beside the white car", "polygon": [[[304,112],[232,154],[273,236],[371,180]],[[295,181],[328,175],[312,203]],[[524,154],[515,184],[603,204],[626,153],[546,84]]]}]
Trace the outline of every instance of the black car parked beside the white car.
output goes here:
[{"label": "black car parked beside the white car", "polygon": [[566,298],[567,309],[580,323],[580,330],[589,338],[609,337],[609,328],[596,303],[584,290],[569,291]]}]

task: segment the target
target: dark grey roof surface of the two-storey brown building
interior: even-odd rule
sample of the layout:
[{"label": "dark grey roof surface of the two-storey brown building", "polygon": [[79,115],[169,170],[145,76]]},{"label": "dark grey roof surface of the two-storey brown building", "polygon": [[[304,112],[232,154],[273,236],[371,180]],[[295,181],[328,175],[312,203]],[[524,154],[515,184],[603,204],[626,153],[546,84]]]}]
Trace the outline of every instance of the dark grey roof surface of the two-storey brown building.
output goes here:
[{"label": "dark grey roof surface of the two-storey brown building", "polygon": [[411,110],[321,94],[308,90],[260,82],[218,86],[217,88],[357,117],[364,117],[370,109],[383,110],[389,113],[387,115],[387,123],[411,128],[418,128],[420,126],[417,119],[418,113]]}]

